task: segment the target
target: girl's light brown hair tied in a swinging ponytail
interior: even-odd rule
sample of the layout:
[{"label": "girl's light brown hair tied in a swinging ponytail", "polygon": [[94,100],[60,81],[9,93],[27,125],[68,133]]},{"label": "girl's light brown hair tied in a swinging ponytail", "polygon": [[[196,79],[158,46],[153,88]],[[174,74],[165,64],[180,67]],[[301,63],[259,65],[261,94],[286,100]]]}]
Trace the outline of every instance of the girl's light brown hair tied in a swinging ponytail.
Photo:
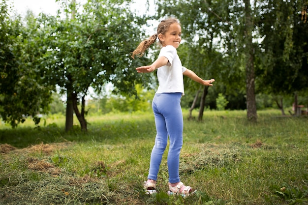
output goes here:
[{"label": "girl's light brown hair tied in a swinging ponytail", "polygon": [[[138,58],[142,57],[144,55],[144,52],[153,44],[155,43],[157,37],[159,34],[165,34],[167,30],[169,29],[171,24],[180,24],[179,20],[176,18],[168,18],[165,20],[162,20],[157,27],[157,32],[154,35],[151,35],[147,40],[141,41],[141,43],[138,45],[138,47],[130,53],[131,58],[135,59],[135,56]],[[158,38],[159,40],[159,38]],[[159,43],[161,44],[161,41],[159,40]]]}]

